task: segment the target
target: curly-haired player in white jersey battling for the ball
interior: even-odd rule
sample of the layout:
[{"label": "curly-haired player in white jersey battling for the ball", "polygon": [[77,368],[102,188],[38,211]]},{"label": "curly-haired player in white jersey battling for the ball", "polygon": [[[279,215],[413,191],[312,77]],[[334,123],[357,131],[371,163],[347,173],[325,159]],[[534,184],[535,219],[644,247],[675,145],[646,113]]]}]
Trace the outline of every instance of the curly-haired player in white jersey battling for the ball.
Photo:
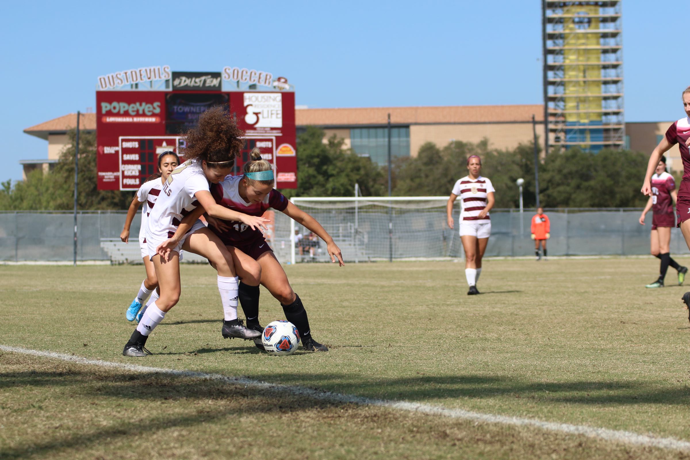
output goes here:
[{"label": "curly-haired player in white jersey battling for the ball", "polygon": [[218,183],[230,174],[235,157],[244,145],[244,132],[237,128],[224,108],[206,110],[197,126],[186,133],[184,156],[188,161],[173,170],[159,194],[146,222],[146,245],[153,262],[160,297],[150,303],[122,354],[143,357],[151,354],[144,345],[148,335],[164,319],[166,312],[179,301],[179,251],[200,254],[212,261],[218,272],[217,283],[223,306],[223,337],[255,339],[261,334],[250,330],[237,319],[237,277],[233,257],[218,237],[197,221],[188,233],[170,248],[169,257],[157,255],[157,246],[175,234],[181,219],[197,206],[203,206],[210,217],[239,221],[248,227],[264,227],[266,219],[229,210],[217,204],[208,183]]}]

